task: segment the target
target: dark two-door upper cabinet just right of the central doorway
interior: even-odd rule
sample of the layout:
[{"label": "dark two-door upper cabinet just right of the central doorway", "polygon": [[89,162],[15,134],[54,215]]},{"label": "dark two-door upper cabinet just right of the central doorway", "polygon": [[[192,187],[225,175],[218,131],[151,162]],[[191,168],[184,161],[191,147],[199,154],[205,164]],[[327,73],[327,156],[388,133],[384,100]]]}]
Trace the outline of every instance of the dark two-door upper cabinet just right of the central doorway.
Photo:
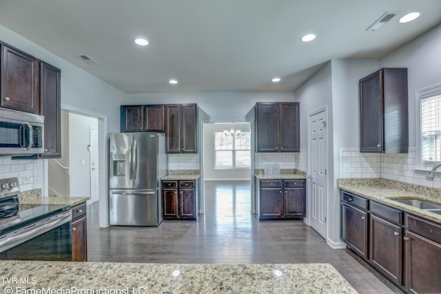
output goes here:
[{"label": "dark two-door upper cabinet just right of the central doorway", "polygon": [[300,151],[299,103],[256,103],[258,152]]}]

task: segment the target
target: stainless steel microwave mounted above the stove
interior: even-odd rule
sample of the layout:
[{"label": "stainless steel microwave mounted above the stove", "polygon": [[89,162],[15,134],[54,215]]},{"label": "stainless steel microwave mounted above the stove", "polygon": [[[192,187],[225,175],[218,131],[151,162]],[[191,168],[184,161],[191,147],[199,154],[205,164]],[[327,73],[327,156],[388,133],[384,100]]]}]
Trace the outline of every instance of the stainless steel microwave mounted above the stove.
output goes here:
[{"label": "stainless steel microwave mounted above the stove", "polygon": [[44,153],[44,116],[0,107],[0,156]]}]

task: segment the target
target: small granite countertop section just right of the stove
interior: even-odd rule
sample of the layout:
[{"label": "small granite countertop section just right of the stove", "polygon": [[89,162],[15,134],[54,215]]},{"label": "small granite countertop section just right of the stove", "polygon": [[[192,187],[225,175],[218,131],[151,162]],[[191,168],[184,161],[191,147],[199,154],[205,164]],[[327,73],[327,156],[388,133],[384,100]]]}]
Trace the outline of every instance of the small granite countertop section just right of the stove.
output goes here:
[{"label": "small granite countertop section just right of the stove", "polygon": [[21,204],[61,204],[74,207],[89,200],[88,197],[41,196],[41,189],[24,191],[19,194]]}]

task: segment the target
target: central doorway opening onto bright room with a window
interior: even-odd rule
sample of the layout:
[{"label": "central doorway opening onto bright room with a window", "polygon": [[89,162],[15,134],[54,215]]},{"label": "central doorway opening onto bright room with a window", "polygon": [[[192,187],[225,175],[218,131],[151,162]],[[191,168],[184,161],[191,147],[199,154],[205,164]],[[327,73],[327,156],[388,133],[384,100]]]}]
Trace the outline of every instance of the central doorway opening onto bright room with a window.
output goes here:
[{"label": "central doorway opening onto bright room with a window", "polygon": [[203,211],[223,220],[248,218],[252,213],[251,123],[203,123],[202,144]]}]

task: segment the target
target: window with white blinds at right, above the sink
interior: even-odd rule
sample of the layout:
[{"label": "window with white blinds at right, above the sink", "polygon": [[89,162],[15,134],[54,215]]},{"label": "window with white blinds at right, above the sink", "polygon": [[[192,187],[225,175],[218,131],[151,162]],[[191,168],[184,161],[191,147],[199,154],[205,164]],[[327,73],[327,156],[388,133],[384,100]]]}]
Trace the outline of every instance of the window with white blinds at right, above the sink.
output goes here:
[{"label": "window with white blinds at right, above the sink", "polygon": [[441,162],[441,85],[419,92],[421,159],[424,166]]}]

